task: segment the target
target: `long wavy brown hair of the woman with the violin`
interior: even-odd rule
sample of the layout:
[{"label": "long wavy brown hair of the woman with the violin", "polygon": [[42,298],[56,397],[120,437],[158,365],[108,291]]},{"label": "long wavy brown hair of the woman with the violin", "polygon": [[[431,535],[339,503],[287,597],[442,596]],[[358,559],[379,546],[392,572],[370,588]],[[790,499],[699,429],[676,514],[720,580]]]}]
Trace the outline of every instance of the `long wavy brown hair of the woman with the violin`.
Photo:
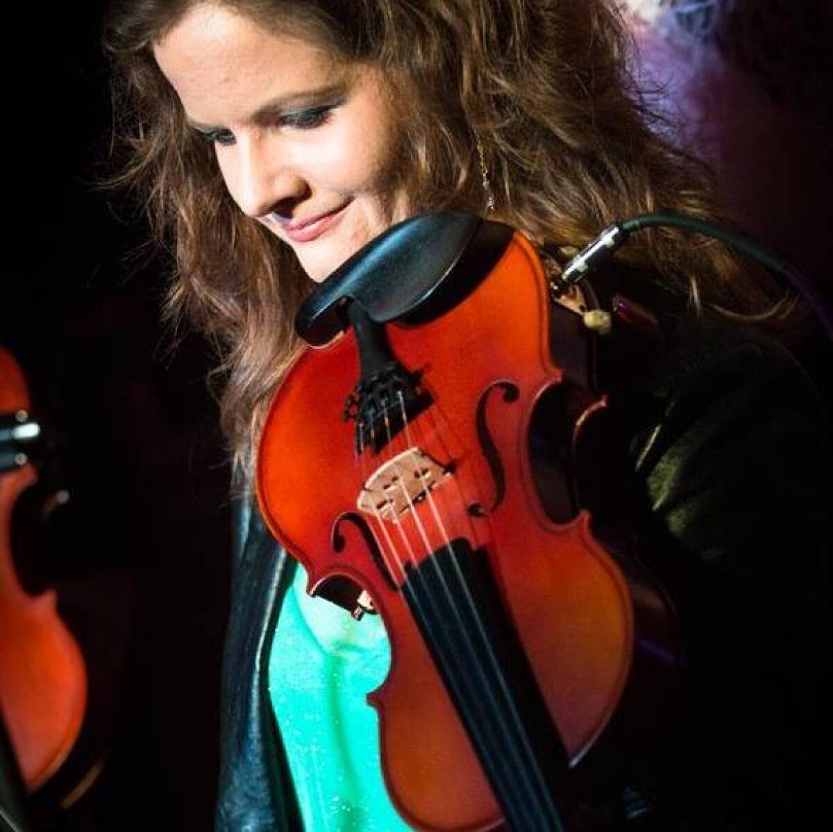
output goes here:
[{"label": "long wavy brown hair of the woman with the violin", "polygon": [[[172,248],[167,313],[216,343],[222,424],[245,460],[297,353],[292,317],[312,284],[292,251],[232,202],[212,148],[187,126],[153,58],[153,43],[197,2],[110,9],[116,133],[128,153],[115,181]],[[666,138],[633,83],[631,38],[606,0],[202,2],[382,68],[407,124],[401,176],[416,211],[485,213],[479,143],[496,217],[565,253],[636,213],[716,217],[704,169]],[[647,232],[625,256],[695,303],[762,308],[758,283],[719,243]]]}]

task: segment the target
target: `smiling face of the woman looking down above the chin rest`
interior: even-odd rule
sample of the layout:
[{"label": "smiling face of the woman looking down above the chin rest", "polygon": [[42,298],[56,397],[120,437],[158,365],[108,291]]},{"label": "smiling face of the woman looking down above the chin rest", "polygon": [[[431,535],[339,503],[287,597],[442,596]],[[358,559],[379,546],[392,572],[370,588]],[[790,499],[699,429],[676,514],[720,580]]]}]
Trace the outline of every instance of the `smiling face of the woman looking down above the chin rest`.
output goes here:
[{"label": "smiling face of the woman looking down above the chin rest", "polygon": [[234,201],[313,280],[407,217],[397,119],[376,69],[214,3],[193,7],[153,52]]}]

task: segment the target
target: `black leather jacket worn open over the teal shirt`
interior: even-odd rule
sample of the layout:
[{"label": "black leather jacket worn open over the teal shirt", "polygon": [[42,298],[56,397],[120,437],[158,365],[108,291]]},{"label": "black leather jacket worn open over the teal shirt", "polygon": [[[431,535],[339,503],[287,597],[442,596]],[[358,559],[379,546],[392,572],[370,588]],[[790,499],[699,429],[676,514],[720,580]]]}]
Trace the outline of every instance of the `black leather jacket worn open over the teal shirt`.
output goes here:
[{"label": "black leather jacket worn open over the teal shirt", "polygon": [[[661,770],[643,778],[651,817],[628,813],[627,783],[624,796],[622,783],[607,789],[618,808],[596,817],[604,828],[805,828],[825,724],[826,417],[776,343],[685,316],[666,336],[638,378],[614,344],[612,473],[582,502],[639,539],[673,599],[682,715]],[[300,829],[267,692],[292,569],[250,502],[236,523],[217,829]],[[619,762],[639,779],[638,764]]]}]

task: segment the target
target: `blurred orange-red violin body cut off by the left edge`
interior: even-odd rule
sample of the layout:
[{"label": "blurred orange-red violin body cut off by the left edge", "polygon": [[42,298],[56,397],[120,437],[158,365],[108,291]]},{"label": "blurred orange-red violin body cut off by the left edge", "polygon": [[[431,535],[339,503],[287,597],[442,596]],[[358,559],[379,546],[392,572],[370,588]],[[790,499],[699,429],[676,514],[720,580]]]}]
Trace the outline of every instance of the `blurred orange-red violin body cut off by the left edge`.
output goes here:
[{"label": "blurred orange-red violin body cut off by the left edge", "polygon": [[12,556],[12,509],[37,478],[27,440],[29,418],[21,368],[0,347],[0,710],[23,784],[35,791],[59,769],[82,727],[87,674],[81,650],[57,614],[54,590],[26,593]]}]

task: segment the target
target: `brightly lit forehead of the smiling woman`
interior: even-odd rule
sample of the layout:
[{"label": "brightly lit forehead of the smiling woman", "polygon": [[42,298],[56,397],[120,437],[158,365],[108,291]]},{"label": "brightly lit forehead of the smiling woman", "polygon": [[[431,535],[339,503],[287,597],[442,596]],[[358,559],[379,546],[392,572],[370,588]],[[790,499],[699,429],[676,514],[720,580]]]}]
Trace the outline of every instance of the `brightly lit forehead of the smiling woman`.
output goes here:
[{"label": "brightly lit forehead of the smiling woman", "polygon": [[350,69],[310,41],[212,3],[192,7],[153,54],[189,118],[229,125],[267,99],[344,82]]}]

